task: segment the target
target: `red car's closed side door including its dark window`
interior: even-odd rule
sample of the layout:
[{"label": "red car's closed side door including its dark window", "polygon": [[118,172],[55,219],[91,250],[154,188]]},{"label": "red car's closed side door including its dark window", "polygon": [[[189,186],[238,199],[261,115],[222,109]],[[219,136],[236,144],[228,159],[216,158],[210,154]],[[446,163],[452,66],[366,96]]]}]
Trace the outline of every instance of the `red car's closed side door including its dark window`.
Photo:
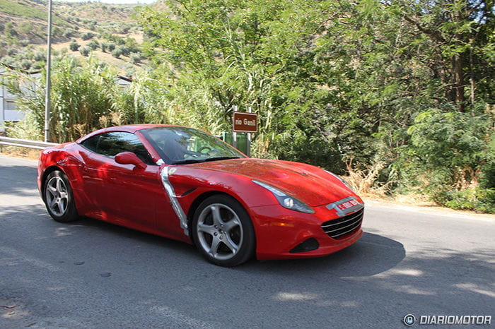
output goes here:
[{"label": "red car's closed side door including its dark window", "polygon": [[[112,131],[84,140],[81,146],[85,166],[85,191],[102,220],[153,232],[156,229],[156,203],[166,197],[156,165],[139,138],[133,133]],[[134,152],[146,164],[119,164],[120,152]]]}]

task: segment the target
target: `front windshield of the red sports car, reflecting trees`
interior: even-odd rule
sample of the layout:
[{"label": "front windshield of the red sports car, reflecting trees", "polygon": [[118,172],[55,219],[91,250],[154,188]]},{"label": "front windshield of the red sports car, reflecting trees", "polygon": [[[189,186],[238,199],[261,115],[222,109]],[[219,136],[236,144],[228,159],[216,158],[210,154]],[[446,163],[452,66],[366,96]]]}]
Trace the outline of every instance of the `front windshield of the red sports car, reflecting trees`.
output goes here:
[{"label": "front windshield of the red sports car, reflecting trees", "polygon": [[185,127],[156,127],[141,133],[168,164],[195,163],[245,157],[223,141]]}]

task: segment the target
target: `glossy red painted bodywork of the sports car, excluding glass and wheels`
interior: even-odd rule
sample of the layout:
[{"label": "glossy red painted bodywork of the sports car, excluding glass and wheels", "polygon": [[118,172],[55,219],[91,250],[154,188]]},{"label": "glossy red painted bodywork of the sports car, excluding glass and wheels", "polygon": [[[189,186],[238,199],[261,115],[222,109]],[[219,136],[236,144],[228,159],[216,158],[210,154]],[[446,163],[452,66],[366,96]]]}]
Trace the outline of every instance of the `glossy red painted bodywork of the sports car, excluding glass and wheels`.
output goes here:
[{"label": "glossy red painted bodywork of the sports car, excluding glass and wheels", "polygon": [[[342,217],[327,205],[349,197],[361,204],[363,201],[337,177],[309,164],[245,158],[157,164],[139,169],[133,164],[118,164],[112,157],[98,155],[80,145],[81,141],[98,133],[127,131],[138,136],[153,160],[158,162],[158,152],[139,132],[155,126],[106,128],[75,143],[42,151],[38,188],[42,191],[44,179],[52,168],[61,169],[69,178],[79,215],[192,243],[180,226],[180,219],[162,184],[160,174],[166,166],[177,201],[189,219],[198,202],[211,193],[226,193],[243,205],[255,229],[258,259],[323,256],[354,244],[363,234],[361,225],[338,240],[323,231],[323,222]],[[283,208],[271,192],[255,184],[253,179],[281,189],[310,205],[315,213]],[[318,241],[318,249],[290,252],[309,238]]]}]

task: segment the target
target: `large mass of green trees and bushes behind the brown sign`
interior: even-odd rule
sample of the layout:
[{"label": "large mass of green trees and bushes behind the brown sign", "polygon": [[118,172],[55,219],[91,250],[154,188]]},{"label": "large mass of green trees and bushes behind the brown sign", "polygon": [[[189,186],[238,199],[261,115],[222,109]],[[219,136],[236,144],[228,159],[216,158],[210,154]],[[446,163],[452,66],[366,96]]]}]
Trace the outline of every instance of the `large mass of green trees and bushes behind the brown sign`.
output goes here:
[{"label": "large mass of green trees and bushes behind the brown sign", "polygon": [[349,158],[361,170],[383,162],[375,184],[419,186],[443,204],[494,184],[493,112],[479,109],[493,102],[495,67],[483,1],[165,2],[140,15],[177,121],[216,133],[234,105],[251,108],[255,155],[338,173]]}]

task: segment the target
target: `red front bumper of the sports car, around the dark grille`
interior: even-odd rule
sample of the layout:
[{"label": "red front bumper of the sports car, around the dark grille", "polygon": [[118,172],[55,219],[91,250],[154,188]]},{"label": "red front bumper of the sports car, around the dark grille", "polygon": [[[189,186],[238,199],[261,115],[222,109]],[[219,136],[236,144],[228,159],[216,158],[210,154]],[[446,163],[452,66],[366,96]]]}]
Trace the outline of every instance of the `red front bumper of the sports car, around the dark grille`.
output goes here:
[{"label": "red front bumper of the sports car, around the dark grille", "polygon": [[[260,260],[310,258],[325,256],[354,244],[363,235],[361,223],[349,234],[332,239],[322,229],[322,224],[339,216],[325,205],[313,208],[314,214],[298,213],[280,205],[250,208],[256,232],[256,256]],[[291,252],[307,239],[318,241],[318,248],[311,251]]]}]

